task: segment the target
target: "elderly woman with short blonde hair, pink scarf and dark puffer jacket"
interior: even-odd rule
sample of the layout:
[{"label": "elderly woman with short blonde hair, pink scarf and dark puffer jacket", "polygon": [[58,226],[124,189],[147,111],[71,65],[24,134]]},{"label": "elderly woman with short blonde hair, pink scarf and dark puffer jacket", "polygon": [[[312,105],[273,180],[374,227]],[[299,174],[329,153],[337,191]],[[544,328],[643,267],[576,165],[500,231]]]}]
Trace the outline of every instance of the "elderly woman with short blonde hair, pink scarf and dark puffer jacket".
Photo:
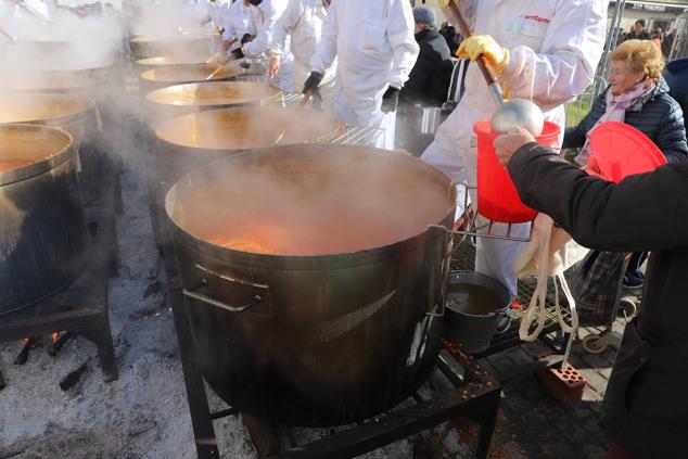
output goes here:
[{"label": "elderly woman with short blonde hair, pink scarf and dark puffer jacket", "polygon": [[[611,120],[640,130],[660,148],[670,163],[686,158],[684,116],[662,78],[661,49],[649,40],[627,40],[612,51],[610,61],[609,87],[578,126],[566,129],[562,148],[582,148],[576,162],[586,164],[590,155],[590,132],[599,124]],[[642,286],[645,276],[640,266],[645,258],[640,253],[630,257],[624,276],[625,286]]]}]

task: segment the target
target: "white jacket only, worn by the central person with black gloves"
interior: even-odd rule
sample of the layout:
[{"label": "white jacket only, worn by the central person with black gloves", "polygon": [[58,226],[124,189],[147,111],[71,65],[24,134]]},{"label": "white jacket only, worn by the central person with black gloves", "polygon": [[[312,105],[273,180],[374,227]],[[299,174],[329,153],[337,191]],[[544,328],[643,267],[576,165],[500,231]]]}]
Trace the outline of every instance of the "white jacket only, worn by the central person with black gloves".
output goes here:
[{"label": "white jacket only, worn by the central person with black gloves", "polygon": [[387,85],[402,88],[418,51],[408,0],[334,0],[310,66],[324,74],[337,56],[337,84],[352,97],[371,97]]}]

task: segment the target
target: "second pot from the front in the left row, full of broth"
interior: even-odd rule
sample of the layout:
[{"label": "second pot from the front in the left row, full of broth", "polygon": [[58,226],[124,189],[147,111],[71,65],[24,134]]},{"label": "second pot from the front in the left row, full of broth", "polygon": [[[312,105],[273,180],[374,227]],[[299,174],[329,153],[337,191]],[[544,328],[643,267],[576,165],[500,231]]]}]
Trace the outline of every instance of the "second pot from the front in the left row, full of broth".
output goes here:
[{"label": "second pot from the front in the left row, full of broth", "polygon": [[64,129],[78,155],[85,200],[100,195],[103,157],[95,141],[101,122],[95,102],[80,93],[22,92],[0,94],[0,124],[29,123]]}]

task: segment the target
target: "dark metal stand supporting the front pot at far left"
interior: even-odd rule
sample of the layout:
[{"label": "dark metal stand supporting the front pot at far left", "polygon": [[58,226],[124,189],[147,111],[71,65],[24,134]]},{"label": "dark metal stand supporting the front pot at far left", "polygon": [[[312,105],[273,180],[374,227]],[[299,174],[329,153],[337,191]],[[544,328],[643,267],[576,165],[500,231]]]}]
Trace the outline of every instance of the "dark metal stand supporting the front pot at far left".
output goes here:
[{"label": "dark metal stand supporting the front pot at far left", "polygon": [[104,380],[110,382],[118,378],[107,305],[109,278],[117,273],[115,181],[119,180],[118,170],[111,170],[106,177],[105,192],[86,209],[91,235],[87,271],[63,292],[1,316],[0,340],[59,331],[81,335],[98,346]]}]

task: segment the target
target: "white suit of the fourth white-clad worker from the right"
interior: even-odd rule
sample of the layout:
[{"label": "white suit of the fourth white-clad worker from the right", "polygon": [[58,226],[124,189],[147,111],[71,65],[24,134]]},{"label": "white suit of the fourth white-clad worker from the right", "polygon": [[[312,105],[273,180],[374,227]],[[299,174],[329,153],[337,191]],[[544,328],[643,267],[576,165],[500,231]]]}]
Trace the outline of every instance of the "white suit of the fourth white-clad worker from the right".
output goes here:
[{"label": "white suit of the fourth white-clad worker from the right", "polygon": [[[265,56],[272,43],[275,24],[281,17],[289,0],[263,0],[259,5],[251,5],[251,21],[256,26],[256,38],[241,47],[246,58]],[[272,79],[272,85],[282,92],[294,91],[294,55],[290,51],[289,43],[284,44],[282,66]]]}]

